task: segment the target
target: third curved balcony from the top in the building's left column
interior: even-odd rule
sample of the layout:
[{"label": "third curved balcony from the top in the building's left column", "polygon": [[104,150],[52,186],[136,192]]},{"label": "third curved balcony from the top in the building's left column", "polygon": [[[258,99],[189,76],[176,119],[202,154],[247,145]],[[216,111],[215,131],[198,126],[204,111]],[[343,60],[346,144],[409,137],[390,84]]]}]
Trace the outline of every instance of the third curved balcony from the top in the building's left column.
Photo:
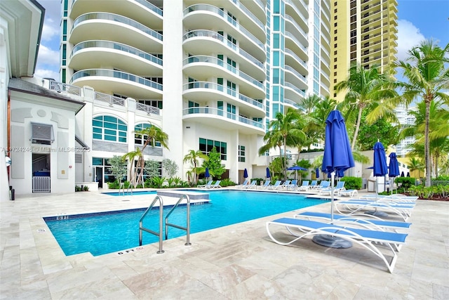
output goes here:
[{"label": "third curved balcony from the top in the building's left column", "polygon": [[111,65],[112,62],[116,69],[133,74],[162,76],[160,58],[114,41],[82,41],[76,44],[70,54],[69,67],[74,70],[83,70],[89,67]]}]

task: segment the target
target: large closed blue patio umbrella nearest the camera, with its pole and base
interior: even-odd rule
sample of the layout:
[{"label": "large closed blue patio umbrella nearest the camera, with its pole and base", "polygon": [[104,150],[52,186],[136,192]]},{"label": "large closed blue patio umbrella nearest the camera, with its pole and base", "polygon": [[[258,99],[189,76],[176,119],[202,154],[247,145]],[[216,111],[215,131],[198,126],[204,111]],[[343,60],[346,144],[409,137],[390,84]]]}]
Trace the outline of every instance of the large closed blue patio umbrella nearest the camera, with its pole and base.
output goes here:
[{"label": "large closed blue patio umbrella nearest the camera, with its pole and base", "polygon": [[[335,172],[345,171],[354,167],[351,145],[349,145],[348,133],[344,118],[339,110],[333,110],[326,119],[326,134],[324,138],[324,155],[321,171],[330,173],[330,216],[331,223],[334,221],[334,176]],[[331,235],[315,235],[313,241],[326,247],[349,248],[351,242],[338,239]]]}]

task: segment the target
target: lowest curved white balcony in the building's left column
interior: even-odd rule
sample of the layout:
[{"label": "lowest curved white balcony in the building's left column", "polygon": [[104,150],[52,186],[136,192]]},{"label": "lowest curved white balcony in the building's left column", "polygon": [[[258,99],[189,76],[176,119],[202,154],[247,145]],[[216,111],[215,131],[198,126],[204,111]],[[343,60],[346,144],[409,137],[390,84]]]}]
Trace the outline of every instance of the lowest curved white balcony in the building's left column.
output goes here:
[{"label": "lowest curved white balcony in the building's left column", "polygon": [[106,69],[80,70],[70,84],[91,86],[95,91],[119,93],[135,99],[162,98],[162,84],[126,72]]}]

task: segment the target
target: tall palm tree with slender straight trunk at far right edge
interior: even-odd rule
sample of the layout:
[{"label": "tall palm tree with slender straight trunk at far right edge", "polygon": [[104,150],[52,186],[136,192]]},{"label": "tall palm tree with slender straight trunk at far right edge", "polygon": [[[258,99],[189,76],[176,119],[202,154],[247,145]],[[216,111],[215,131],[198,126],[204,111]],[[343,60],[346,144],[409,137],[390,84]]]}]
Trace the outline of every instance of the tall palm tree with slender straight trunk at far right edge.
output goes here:
[{"label": "tall palm tree with slender straight trunk at far right edge", "polygon": [[439,100],[446,105],[449,104],[449,95],[445,93],[449,88],[449,69],[445,67],[445,63],[449,63],[448,54],[449,44],[441,48],[434,44],[434,41],[426,40],[408,51],[406,60],[396,63],[396,67],[403,72],[403,77],[408,79],[397,84],[403,90],[404,102],[409,104],[413,100],[422,99],[426,105],[424,129],[426,186],[431,185],[430,105]]}]

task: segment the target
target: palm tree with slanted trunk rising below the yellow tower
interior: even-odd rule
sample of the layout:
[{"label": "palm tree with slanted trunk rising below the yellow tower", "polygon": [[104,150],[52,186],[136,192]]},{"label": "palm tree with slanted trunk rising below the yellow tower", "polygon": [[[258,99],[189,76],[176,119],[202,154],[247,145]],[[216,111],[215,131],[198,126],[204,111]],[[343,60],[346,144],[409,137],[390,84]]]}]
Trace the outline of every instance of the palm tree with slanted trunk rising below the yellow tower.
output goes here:
[{"label": "palm tree with slanted trunk rising below the yellow tower", "polygon": [[339,82],[335,86],[335,91],[346,91],[344,97],[344,104],[349,107],[349,113],[356,113],[356,128],[354,129],[354,136],[352,138],[351,150],[354,150],[358,129],[360,128],[360,122],[362,118],[363,110],[377,107],[375,113],[370,112],[368,119],[371,122],[375,122],[384,115],[391,116],[392,104],[387,105],[389,110],[381,109],[384,107],[379,105],[383,99],[394,98],[396,92],[391,89],[392,80],[387,74],[381,74],[377,69],[377,66],[370,67],[366,70],[361,65],[351,65],[349,68],[349,77]]}]

